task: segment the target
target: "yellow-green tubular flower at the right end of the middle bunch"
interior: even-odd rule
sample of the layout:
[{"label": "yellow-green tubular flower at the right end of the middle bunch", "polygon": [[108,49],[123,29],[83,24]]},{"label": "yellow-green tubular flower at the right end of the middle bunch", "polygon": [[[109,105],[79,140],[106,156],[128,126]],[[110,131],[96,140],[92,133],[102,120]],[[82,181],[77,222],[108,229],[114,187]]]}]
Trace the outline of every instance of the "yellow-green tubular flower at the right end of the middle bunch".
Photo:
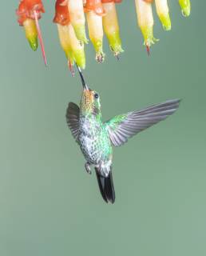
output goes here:
[{"label": "yellow-green tubular flower at the right end of the middle bunch", "polygon": [[104,31],[109,40],[110,49],[118,59],[119,54],[124,50],[121,48],[120,29],[115,3],[121,2],[121,0],[101,0],[101,2],[105,9],[105,16],[103,17]]}]

